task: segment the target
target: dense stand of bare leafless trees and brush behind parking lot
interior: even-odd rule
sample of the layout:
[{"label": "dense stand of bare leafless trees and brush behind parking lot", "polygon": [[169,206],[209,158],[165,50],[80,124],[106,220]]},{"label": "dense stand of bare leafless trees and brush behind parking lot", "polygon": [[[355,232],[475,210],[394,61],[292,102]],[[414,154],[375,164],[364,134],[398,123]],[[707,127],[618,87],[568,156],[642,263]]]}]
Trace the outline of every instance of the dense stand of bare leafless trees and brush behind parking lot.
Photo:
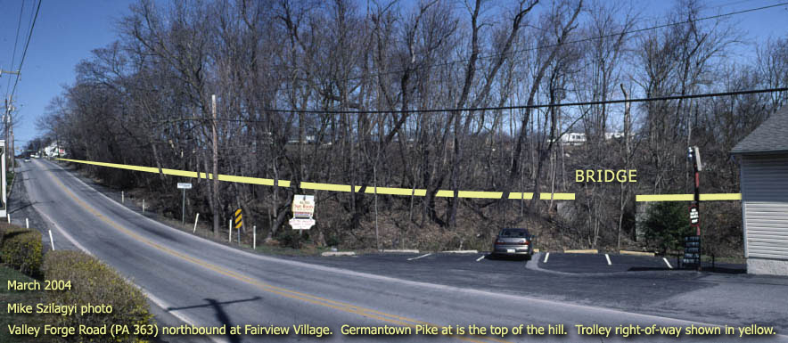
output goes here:
[{"label": "dense stand of bare leafless trees and brush behind parking lot", "polygon": [[[738,192],[728,151],[785,93],[631,109],[407,111],[788,84],[785,38],[759,42],[752,46],[758,58],[742,62],[731,54],[747,37],[726,18],[698,20],[712,12],[702,3],[678,1],[659,22],[638,15],[637,5],[141,1],[119,20],[118,41],[80,63],[76,82],[53,99],[43,140],[60,142],[74,159],[296,185],[193,181],[187,212],[212,221],[217,236],[240,207],[261,238],[291,242],[292,196],[314,193],[318,225],[302,241],[318,246],[487,249],[499,227],[529,225],[546,248],[638,249],[635,195],[690,192],[689,145],[703,151],[703,192]],[[628,33],[665,21],[679,24]],[[587,142],[556,143],[569,132]],[[612,132],[621,136],[607,139]],[[180,216],[175,184],[186,180],[86,168]],[[575,183],[579,168],[636,168],[637,183]],[[427,195],[313,192],[299,189],[301,181],[415,187]],[[441,189],[575,192],[577,200],[437,198]],[[727,254],[741,249],[737,206],[702,208],[707,240]]]}]

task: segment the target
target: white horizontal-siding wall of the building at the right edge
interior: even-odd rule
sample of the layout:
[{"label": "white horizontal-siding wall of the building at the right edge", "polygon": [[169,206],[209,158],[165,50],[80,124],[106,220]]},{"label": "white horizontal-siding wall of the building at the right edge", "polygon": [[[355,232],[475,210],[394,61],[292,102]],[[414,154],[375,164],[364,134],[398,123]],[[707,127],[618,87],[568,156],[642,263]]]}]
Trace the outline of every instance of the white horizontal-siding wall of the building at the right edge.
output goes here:
[{"label": "white horizontal-siding wall of the building at the right edge", "polygon": [[788,154],[742,158],[745,257],[788,260]]}]

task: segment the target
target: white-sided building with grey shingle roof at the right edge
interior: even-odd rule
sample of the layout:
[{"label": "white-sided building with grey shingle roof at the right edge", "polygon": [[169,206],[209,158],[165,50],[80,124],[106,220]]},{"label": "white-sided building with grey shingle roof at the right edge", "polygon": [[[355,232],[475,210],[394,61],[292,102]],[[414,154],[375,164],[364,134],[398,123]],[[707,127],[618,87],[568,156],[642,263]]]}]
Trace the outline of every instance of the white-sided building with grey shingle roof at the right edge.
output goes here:
[{"label": "white-sided building with grey shingle roof at the right edge", "polygon": [[740,164],[747,273],[788,275],[788,106],[731,153]]}]

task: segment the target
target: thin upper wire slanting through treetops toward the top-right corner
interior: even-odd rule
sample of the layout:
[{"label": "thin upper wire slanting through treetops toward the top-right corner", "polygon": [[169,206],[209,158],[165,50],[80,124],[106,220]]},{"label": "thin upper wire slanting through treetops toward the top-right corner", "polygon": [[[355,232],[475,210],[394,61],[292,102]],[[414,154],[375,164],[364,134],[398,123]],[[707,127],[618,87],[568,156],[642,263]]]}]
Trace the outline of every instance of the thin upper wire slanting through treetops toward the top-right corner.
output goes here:
[{"label": "thin upper wire slanting through treetops toward the top-right corner", "polygon": [[[727,13],[722,13],[722,14],[716,14],[716,15],[711,15],[711,16],[702,17],[702,18],[696,18],[696,19],[691,19],[691,20],[671,22],[671,23],[661,24],[661,25],[657,25],[657,26],[653,26],[653,27],[649,27],[649,28],[633,29],[633,30],[629,30],[629,31],[620,31],[620,32],[617,32],[617,33],[612,33],[612,34],[609,34],[609,35],[603,35],[603,36],[598,36],[598,37],[587,37],[587,38],[571,40],[571,41],[567,41],[567,42],[563,42],[563,43],[556,43],[556,44],[551,44],[551,45],[540,45],[540,46],[530,47],[530,48],[526,48],[526,49],[513,50],[513,51],[508,52],[508,53],[493,53],[493,54],[489,54],[489,55],[479,56],[478,59],[479,60],[487,60],[487,59],[492,59],[492,58],[501,57],[501,56],[505,56],[505,55],[511,55],[511,54],[515,54],[515,53],[526,53],[526,52],[530,52],[530,51],[535,51],[535,50],[539,50],[539,49],[546,49],[546,48],[551,48],[551,47],[558,47],[558,46],[562,46],[562,45],[570,45],[570,44],[576,44],[576,43],[586,43],[586,42],[590,42],[590,41],[594,41],[594,40],[598,40],[598,39],[604,39],[604,38],[610,38],[610,37],[619,37],[619,36],[622,36],[622,35],[629,35],[629,34],[636,34],[636,33],[640,33],[640,32],[651,31],[651,30],[654,30],[654,29],[664,29],[664,28],[669,28],[669,27],[672,27],[672,26],[684,25],[684,24],[697,22],[697,21],[702,21],[702,20],[719,19],[719,18],[729,17],[729,16],[743,14],[743,13],[748,13],[748,12],[762,11],[762,10],[767,10],[767,9],[770,9],[770,8],[783,6],[783,5],[786,5],[786,4],[788,4],[788,2],[783,2],[783,3],[780,3],[780,4],[769,4],[769,5],[766,5],[766,6],[755,7],[755,8],[750,8],[750,9],[745,9],[745,10],[735,11],[735,12],[727,12]],[[454,60],[454,61],[446,61],[446,62],[442,62],[442,63],[428,64],[428,65],[424,65],[424,66],[421,66],[421,67],[414,67],[413,69],[410,69],[410,70],[432,69],[432,68],[446,67],[446,66],[450,66],[450,65],[453,65],[453,64],[457,64],[457,63],[464,63],[464,62],[467,62],[467,61],[470,61],[470,59],[465,58],[465,59]],[[345,78],[345,79],[336,80],[336,81],[355,81],[355,80],[360,80],[362,78],[374,78],[374,77],[379,77],[379,76],[400,74],[400,73],[405,72],[406,70],[408,70],[408,69],[397,69],[397,70],[373,73],[373,74],[369,74],[368,76],[365,76],[365,77]],[[322,83],[308,83],[308,85],[309,86],[324,86],[324,85],[330,84],[332,82],[334,82],[334,81],[330,81],[330,82],[326,81],[326,82],[322,82]],[[286,88],[283,88],[283,90],[291,90],[293,88],[294,87],[286,87]]]}]

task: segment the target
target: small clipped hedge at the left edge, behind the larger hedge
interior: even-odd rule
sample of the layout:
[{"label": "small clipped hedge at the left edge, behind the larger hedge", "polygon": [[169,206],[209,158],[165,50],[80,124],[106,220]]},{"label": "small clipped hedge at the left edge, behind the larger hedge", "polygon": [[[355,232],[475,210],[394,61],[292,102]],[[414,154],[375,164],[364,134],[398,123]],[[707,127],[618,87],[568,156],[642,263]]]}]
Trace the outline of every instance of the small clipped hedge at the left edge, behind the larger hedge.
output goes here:
[{"label": "small clipped hedge at the left edge, behind the larger hedge", "polygon": [[0,255],[3,257],[3,262],[24,274],[39,276],[44,251],[41,233],[36,230],[7,226],[3,228],[2,237]]}]

